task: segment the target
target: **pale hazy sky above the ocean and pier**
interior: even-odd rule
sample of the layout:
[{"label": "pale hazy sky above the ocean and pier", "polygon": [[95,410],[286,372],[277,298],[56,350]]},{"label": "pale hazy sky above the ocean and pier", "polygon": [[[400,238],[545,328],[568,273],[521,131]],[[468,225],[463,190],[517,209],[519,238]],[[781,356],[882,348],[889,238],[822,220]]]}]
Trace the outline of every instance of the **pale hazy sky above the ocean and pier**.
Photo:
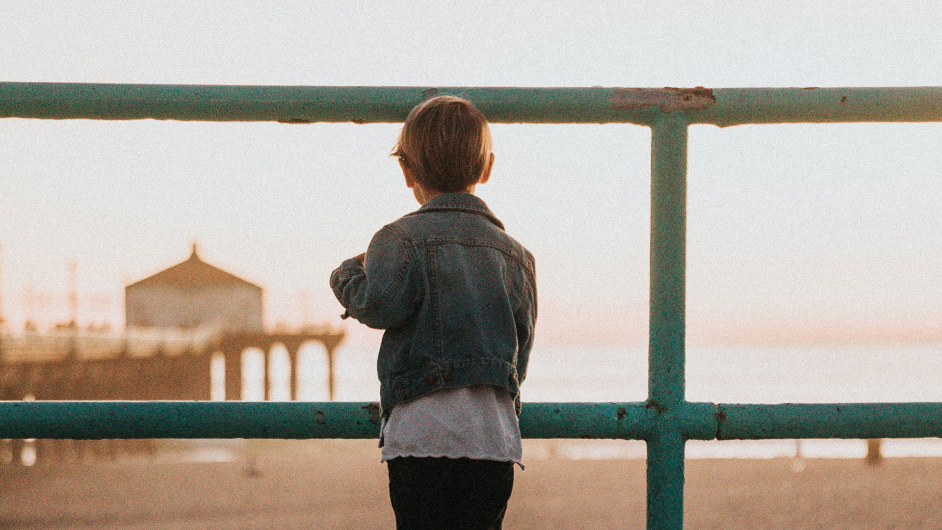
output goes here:
[{"label": "pale hazy sky above the ocean and pier", "polygon": [[[8,0],[0,80],[938,86],[939,27],[934,1]],[[105,318],[106,295],[121,315],[125,281],[198,240],[266,288],[269,323],[298,322],[302,291],[339,323],[331,270],[417,207],[386,156],[397,131],[0,120],[4,314],[22,323],[31,289],[62,318],[75,260],[80,320]],[[643,341],[649,130],[493,131],[479,195],[536,255],[538,336]],[[691,339],[942,340],[940,145],[942,124],[692,127]]]}]

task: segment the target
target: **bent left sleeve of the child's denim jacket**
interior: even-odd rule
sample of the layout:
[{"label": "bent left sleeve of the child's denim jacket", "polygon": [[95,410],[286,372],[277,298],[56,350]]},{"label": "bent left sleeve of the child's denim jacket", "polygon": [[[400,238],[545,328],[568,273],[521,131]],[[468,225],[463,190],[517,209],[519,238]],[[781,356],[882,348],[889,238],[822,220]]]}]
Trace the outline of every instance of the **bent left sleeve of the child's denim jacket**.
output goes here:
[{"label": "bent left sleeve of the child's denim jacket", "polygon": [[331,273],[331,289],[344,318],[353,317],[375,329],[398,327],[420,302],[409,249],[390,227],[373,236],[365,261],[351,257]]}]

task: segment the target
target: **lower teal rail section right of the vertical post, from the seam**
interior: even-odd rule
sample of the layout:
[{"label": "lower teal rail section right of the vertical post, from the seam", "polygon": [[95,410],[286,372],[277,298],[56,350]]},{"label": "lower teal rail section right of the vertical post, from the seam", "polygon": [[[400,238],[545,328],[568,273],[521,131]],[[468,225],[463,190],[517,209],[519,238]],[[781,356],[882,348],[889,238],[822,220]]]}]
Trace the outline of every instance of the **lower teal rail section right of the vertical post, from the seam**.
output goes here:
[{"label": "lower teal rail section right of the vertical post, from the seam", "polygon": [[942,438],[942,403],[718,405],[717,439]]}]

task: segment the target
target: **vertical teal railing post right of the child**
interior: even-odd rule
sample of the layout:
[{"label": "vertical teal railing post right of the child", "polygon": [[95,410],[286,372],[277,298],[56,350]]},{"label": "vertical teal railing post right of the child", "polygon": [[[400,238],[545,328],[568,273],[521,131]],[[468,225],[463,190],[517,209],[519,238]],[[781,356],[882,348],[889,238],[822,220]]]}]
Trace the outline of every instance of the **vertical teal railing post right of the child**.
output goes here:
[{"label": "vertical teal railing post right of the child", "polygon": [[687,116],[661,114],[651,126],[651,299],[648,402],[661,421],[647,439],[647,528],[684,525],[684,405],[687,244]]}]

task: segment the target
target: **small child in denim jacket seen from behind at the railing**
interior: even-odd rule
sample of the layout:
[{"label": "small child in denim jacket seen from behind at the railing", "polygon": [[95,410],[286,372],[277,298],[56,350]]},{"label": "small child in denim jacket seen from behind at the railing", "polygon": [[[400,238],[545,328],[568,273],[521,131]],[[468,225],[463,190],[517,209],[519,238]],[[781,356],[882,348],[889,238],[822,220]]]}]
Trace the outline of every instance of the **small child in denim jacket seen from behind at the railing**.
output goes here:
[{"label": "small child in denim jacket seen from behind at the railing", "polygon": [[521,465],[519,388],[536,322],[533,256],[474,195],[494,165],[469,101],[413,108],[393,155],[422,207],[331,274],[351,316],[385,329],[382,461],[398,529],[500,529]]}]

